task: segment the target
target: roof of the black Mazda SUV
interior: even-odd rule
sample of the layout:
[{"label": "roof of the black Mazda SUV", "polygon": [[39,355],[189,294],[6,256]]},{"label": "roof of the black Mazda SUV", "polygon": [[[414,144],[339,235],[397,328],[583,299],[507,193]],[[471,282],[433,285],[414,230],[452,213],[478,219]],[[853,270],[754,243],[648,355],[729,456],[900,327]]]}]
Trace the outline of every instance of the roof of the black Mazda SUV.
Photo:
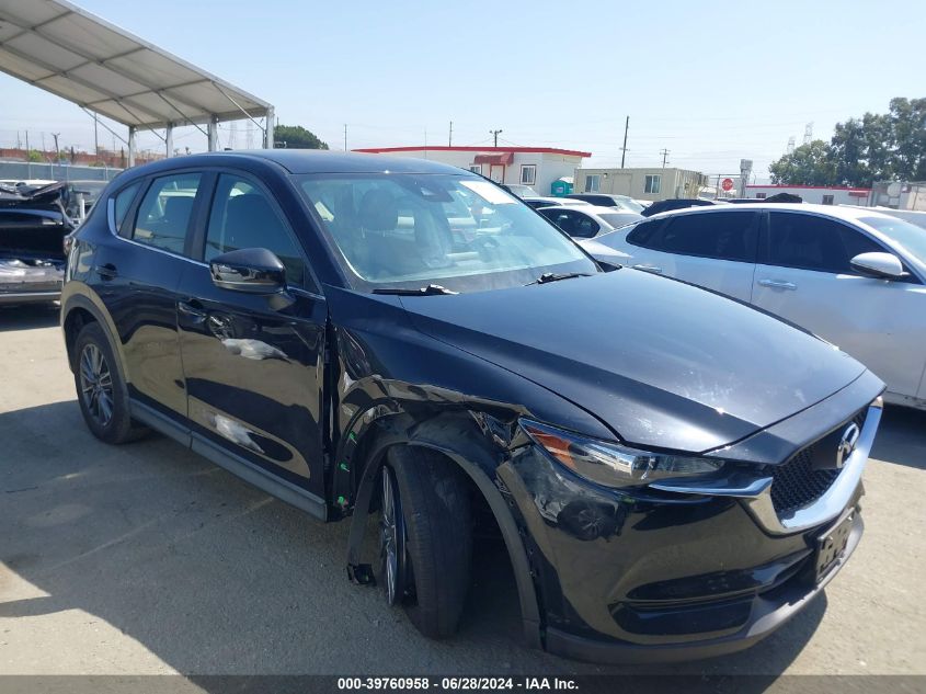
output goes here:
[{"label": "roof of the black Mazda SUV", "polygon": [[289,173],[450,173],[479,178],[475,173],[449,164],[412,157],[389,157],[324,149],[247,149],[214,151],[161,159],[130,169],[130,171],[169,171],[205,166],[235,166],[247,162],[272,162]]}]

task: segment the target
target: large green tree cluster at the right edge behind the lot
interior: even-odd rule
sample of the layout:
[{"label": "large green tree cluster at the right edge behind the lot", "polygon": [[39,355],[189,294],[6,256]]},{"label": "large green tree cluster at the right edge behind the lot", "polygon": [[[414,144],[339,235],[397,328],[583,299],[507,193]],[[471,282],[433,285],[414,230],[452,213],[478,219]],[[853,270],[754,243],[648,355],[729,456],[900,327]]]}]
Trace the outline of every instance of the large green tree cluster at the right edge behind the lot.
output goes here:
[{"label": "large green tree cluster at the right edge behind the lot", "polygon": [[828,145],[803,145],[768,169],[775,183],[796,185],[926,180],[926,99],[892,99],[888,113],[837,123]]}]

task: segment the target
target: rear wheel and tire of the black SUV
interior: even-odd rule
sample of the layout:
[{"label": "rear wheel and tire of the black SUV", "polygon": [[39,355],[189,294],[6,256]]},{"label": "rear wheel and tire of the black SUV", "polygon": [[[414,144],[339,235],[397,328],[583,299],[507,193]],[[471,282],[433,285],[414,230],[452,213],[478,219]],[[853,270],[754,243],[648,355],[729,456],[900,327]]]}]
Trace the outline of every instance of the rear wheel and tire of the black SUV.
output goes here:
[{"label": "rear wheel and tire of the black SUV", "polygon": [[100,323],[83,326],[75,340],[75,387],[83,421],[94,436],[111,444],[135,441],[148,429],[134,422],[128,388]]}]

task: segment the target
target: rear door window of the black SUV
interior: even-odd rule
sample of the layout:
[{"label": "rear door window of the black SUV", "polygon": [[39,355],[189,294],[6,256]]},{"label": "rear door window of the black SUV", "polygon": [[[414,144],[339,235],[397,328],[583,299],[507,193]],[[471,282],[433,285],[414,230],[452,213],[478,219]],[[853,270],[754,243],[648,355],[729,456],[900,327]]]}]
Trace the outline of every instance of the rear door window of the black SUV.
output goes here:
[{"label": "rear door window of the black SUV", "polygon": [[132,238],[183,254],[199,178],[198,173],[179,173],[155,179],[138,207]]}]

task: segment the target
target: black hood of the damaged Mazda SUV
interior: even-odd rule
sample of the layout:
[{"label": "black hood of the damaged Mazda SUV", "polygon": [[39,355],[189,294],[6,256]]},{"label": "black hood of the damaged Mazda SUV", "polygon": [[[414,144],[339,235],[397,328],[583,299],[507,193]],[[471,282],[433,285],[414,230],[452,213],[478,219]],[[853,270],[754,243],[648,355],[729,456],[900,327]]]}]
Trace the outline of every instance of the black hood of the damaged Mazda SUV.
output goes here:
[{"label": "black hood of the damaged Mazda SUV", "polygon": [[648,447],[728,445],[865,372],[767,314],[629,269],[401,300],[421,332],[559,394]]}]

